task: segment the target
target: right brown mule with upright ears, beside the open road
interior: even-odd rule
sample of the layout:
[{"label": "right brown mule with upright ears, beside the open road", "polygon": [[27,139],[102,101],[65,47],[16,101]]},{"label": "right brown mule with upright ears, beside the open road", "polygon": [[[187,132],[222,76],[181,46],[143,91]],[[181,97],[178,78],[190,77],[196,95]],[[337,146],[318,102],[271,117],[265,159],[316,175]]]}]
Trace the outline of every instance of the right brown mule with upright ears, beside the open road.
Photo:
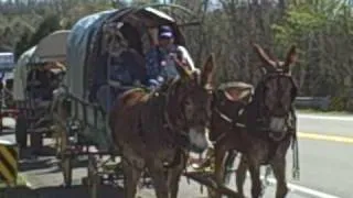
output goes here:
[{"label": "right brown mule with upright ears, beside the open road", "polygon": [[210,139],[215,141],[215,177],[217,183],[224,183],[226,153],[237,151],[243,154],[236,174],[238,193],[244,195],[243,185],[249,168],[252,197],[260,197],[260,166],[269,164],[277,179],[276,198],[284,198],[288,193],[286,154],[296,131],[292,102],[297,86],[290,76],[290,65],[297,58],[296,47],[290,48],[286,62],[269,58],[256,44],[254,47],[265,64],[266,74],[252,101],[239,100],[242,91],[226,91],[227,102],[217,98],[214,101]]}]

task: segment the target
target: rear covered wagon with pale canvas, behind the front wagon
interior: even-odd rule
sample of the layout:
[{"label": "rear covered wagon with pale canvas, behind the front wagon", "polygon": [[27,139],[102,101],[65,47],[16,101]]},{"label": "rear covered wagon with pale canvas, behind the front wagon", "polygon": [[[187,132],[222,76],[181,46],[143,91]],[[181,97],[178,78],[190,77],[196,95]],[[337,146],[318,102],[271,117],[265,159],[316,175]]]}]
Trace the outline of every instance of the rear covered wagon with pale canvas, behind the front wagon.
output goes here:
[{"label": "rear covered wagon with pale canvas, behind the front wagon", "polygon": [[[49,125],[42,123],[49,123],[51,95],[66,70],[68,33],[67,30],[61,30],[45,36],[38,45],[25,51],[15,64],[13,99],[19,111],[15,134],[21,147],[26,146],[28,133],[32,135],[31,146],[40,148],[42,135],[51,132]],[[47,86],[47,89],[40,88],[42,85]]]}]

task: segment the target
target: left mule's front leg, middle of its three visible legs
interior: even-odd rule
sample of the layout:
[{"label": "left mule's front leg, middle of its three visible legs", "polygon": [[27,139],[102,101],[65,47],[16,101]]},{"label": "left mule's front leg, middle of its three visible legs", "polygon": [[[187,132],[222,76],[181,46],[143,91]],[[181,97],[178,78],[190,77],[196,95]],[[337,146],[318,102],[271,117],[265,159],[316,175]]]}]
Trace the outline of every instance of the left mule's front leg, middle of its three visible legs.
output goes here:
[{"label": "left mule's front leg, middle of its three visible legs", "polygon": [[169,189],[165,178],[165,172],[162,163],[153,163],[148,166],[149,173],[153,179],[157,198],[169,198]]}]

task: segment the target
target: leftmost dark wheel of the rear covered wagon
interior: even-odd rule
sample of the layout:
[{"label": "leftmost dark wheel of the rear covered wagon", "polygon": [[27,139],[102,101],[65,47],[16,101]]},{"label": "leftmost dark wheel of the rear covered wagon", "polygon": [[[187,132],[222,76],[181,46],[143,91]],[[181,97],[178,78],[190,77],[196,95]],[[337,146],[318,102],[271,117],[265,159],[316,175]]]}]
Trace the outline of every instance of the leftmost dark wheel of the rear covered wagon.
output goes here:
[{"label": "leftmost dark wheel of the rear covered wagon", "polygon": [[28,136],[26,136],[26,119],[23,113],[20,113],[15,120],[14,135],[15,141],[21,148],[26,147]]}]

